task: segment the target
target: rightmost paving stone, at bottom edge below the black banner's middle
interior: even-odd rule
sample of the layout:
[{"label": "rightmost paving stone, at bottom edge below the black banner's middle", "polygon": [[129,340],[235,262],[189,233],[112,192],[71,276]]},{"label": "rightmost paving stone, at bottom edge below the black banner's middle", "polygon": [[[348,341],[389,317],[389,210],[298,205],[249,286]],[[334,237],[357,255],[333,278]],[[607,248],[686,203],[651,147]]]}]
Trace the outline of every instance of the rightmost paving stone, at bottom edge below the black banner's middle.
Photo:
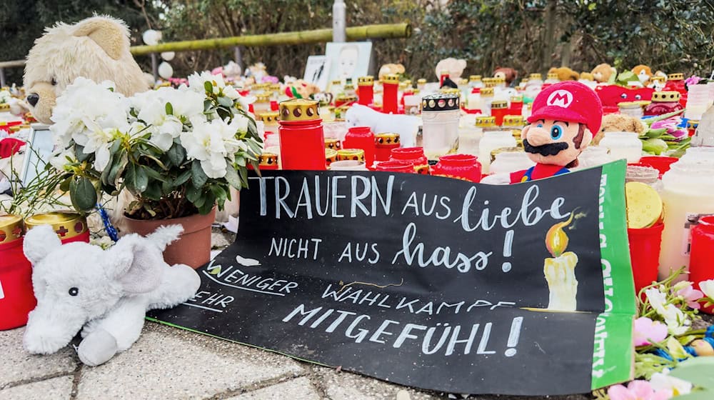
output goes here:
[{"label": "rightmost paving stone, at bottom edge below the black banner's middle", "polygon": [[[350,372],[337,372],[335,369],[323,366],[311,366],[313,373],[322,382],[322,389],[331,400],[396,400],[399,391],[407,391],[411,400],[431,400],[438,397],[423,391],[388,384],[378,379],[352,374]],[[400,396],[402,397],[402,396]]]}]

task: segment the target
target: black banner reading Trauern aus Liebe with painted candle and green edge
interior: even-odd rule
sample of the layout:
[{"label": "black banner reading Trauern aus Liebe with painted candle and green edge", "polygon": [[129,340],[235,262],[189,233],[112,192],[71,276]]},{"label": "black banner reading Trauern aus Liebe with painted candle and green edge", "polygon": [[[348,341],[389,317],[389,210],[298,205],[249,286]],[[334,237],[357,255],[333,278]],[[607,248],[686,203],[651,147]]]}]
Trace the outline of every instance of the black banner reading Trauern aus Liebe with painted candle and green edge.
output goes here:
[{"label": "black banner reading Trauern aus Liebe with painted candle and green edge", "polygon": [[[198,270],[196,296],[150,315],[423,389],[587,392],[630,374],[628,354],[605,356],[631,348],[633,307],[607,299],[601,254],[608,226],[610,249],[626,239],[623,189],[605,190],[623,185],[617,171],[609,183],[596,168],[511,186],[263,173],[243,191],[236,242]],[[613,201],[623,210],[603,219]],[[633,296],[618,271],[615,290]]]}]

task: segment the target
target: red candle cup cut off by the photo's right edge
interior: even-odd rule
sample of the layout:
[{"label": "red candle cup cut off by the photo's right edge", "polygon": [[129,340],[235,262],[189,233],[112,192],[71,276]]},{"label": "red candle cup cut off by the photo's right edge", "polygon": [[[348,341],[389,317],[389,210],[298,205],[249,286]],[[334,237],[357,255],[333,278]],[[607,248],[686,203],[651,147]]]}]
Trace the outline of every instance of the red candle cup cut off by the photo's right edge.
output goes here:
[{"label": "red candle cup cut off by the photo's right edge", "polygon": [[[699,282],[714,279],[714,216],[703,216],[699,223],[692,227],[692,249],[689,254],[689,280],[695,289],[699,289]],[[714,314],[714,306],[705,307],[702,304],[700,311]]]}]

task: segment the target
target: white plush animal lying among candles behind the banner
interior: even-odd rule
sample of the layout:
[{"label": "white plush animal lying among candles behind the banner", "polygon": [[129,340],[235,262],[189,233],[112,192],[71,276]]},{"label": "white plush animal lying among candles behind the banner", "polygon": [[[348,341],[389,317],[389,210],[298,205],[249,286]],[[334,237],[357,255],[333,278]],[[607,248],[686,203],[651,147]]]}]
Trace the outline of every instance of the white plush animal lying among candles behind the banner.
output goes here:
[{"label": "white plush animal lying among candles behind the banner", "polygon": [[411,115],[383,114],[368,106],[354,104],[345,115],[348,128],[369,126],[375,134],[399,134],[402,146],[416,146],[416,134],[419,131],[419,119]]}]

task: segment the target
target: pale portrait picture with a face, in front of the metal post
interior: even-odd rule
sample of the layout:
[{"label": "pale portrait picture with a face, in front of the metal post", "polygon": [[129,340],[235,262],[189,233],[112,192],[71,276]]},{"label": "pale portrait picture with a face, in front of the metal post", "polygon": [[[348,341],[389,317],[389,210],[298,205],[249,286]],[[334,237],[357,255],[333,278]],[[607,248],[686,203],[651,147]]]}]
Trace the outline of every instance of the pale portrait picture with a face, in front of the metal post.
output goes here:
[{"label": "pale portrait picture with a face, in front of the metal post", "polygon": [[330,63],[329,81],[350,78],[356,82],[360,76],[366,76],[371,55],[371,41],[329,42],[325,48],[325,56]]}]

